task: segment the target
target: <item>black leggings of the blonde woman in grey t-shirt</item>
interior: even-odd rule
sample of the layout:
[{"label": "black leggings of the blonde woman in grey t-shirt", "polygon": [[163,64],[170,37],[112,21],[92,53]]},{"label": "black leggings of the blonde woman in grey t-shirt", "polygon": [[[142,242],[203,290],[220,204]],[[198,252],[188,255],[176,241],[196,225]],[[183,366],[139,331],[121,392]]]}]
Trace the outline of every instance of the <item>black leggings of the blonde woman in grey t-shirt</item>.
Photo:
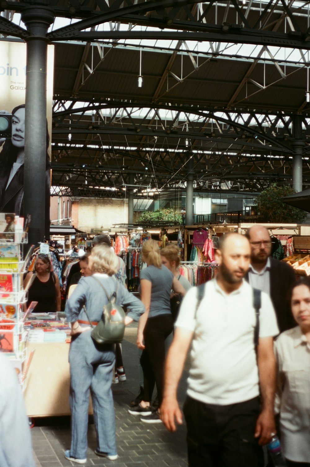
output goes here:
[{"label": "black leggings of the blonde woman in grey t-shirt", "polygon": [[159,406],[163,397],[165,339],[173,330],[171,314],[148,318],[144,327],[144,345],[140,363],[144,375],[144,401],[151,402],[155,382]]}]

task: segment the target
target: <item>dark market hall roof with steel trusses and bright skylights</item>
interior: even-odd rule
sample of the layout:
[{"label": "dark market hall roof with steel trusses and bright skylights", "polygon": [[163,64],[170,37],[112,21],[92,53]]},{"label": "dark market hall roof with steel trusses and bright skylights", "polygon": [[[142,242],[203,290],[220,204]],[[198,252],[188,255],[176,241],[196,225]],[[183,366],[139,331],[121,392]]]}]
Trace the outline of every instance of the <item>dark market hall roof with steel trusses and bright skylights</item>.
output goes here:
[{"label": "dark market hall roof with steel trusses and bright skylights", "polygon": [[[45,4],[56,13],[52,183],[63,193],[146,196],[182,189],[188,173],[199,190],[260,191],[289,183],[296,139],[310,184],[309,2]],[[25,38],[28,5],[7,2],[17,24],[2,18],[1,31]]]}]

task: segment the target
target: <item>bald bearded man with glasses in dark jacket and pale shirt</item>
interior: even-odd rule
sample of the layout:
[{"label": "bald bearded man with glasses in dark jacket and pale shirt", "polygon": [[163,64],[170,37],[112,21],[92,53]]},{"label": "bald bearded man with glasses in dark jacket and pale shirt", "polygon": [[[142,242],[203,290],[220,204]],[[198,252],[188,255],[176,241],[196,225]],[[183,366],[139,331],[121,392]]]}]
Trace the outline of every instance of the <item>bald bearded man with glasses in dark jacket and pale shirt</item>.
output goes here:
[{"label": "bald bearded man with glasses in dark jacket and pale shirt", "polygon": [[245,236],[251,245],[251,262],[245,276],[252,287],[266,292],[274,305],[280,332],[296,326],[287,300],[287,292],[296,281],[293,268],[271,258],[271,239],[268,230],[258,224],[250,227]]}]

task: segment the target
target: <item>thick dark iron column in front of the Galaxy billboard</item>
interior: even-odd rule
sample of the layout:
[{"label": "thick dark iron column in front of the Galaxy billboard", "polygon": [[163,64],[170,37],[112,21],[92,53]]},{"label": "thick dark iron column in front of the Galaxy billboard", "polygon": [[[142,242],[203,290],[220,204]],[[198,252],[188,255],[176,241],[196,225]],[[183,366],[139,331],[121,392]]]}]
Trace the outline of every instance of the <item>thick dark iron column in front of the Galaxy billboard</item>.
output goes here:
[{"label": "thick dark iron column in front of the Galaxy billboard", "polygon": [[29,243],[36,244],[43,241],[45,231],[46,34],[54,21],[54,12],[49,7],[26,7],[22,21],[32,34],[26,39],[24,214],[31,214]]}]

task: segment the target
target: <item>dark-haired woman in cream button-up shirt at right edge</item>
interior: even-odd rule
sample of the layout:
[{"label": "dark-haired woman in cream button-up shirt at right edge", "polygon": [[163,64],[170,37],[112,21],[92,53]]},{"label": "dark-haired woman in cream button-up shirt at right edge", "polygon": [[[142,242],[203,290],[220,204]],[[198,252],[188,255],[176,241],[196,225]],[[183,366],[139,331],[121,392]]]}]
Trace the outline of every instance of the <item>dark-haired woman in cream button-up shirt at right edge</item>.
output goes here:
[{"label": "dark-haired woman in cream button-up shirt at right edge", "polygon": [[297,282],[290,303],[298,326],[274,343],[278,367],[275,411],[288,467],[310,467],[310,279]]}]

